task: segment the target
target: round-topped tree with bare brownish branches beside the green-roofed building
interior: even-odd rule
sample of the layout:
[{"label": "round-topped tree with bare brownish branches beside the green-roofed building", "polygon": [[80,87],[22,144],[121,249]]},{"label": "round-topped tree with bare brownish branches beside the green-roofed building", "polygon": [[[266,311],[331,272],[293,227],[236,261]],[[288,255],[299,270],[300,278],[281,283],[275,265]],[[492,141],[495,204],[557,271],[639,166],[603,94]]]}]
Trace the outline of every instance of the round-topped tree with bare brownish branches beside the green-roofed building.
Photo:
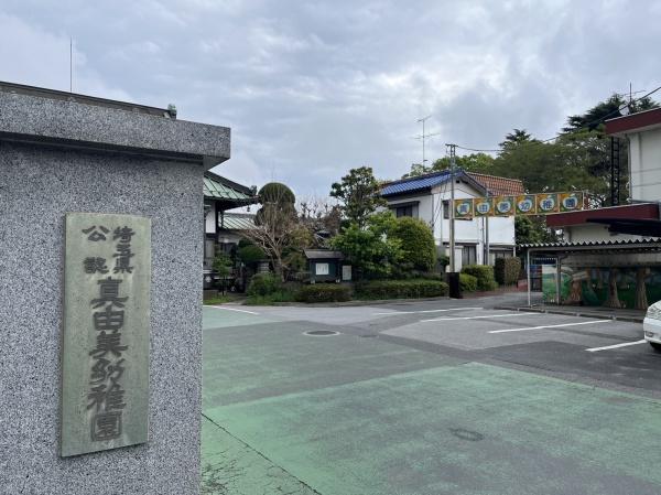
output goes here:
[{"label": "round-topped tree with bare brownish branches beside the green-roofed building", "polygon": [[259,247],[273,265],[275,275],[284,281],[284,250],[300,228],[294,193],[284,184],[266,184],[258,193],[261,208],[254,216],[254,228],[242,235]]}]

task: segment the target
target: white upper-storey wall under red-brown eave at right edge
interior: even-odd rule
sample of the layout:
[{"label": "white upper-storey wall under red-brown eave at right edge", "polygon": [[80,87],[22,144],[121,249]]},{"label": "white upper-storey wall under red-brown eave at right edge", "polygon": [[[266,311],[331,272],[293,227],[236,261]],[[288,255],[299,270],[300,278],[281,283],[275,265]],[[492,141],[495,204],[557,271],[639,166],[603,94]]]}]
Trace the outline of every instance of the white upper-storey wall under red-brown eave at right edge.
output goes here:
[{"label": "white upper-storey wall under red-brown eave at right edge", "polygon": [[627,137],[631,198],[661,201],[661,129],[636,132]]}]

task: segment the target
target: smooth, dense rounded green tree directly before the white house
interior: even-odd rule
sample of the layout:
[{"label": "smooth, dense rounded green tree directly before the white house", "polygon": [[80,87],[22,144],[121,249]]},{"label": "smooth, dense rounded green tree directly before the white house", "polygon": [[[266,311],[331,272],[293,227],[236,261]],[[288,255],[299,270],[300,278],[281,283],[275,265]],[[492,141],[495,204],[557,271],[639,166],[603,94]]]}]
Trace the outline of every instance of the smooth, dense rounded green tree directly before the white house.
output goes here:
[{"label": "smooth, dense rounded green tree directly before the white house", "polygon": [[397,219],[391,236],[399,239],[403,259],[416,270],[432,271],[436,266],[436,245],[427,224],[419,218],[402,216]]}]

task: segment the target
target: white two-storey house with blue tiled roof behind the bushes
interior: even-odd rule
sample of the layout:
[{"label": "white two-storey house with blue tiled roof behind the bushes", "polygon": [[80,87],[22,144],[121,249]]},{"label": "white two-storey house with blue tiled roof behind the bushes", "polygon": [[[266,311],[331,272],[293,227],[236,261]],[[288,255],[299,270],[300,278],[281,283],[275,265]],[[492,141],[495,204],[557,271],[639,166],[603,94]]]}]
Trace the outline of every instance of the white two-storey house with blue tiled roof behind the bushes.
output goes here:
[{"label": "white two-storey house with blue tiled roof behind the bushes", "polygon": [[[424,220],[434,234],[440,254],[449,249],[449,171],[429,173],[384,184],[381,196],[399,216]],[[455,173],[455,198],[523,194],[516,179],[458,171]],[[514,217],[473,218],[455,222],[456,270],[463,265],[484,265],[486,245],[488,263],[498,257],[514,255]]]}]

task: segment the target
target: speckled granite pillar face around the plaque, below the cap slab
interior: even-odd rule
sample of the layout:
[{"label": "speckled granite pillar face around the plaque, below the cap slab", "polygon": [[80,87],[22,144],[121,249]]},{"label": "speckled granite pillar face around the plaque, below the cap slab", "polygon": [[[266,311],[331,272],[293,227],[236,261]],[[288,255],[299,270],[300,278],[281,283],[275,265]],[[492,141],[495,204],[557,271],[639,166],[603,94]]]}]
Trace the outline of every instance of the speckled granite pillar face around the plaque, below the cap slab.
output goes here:
[{"label": "speckled granite pillar face around the plaque, below the cap slab", "polygon": [[[86,127],[95,122],[79,132]],[[199,163],[0,140],[0,494],[198,493],[202,172]],[[149,443],[63,459],[66,212],[152,220],[151,396]]]}]

